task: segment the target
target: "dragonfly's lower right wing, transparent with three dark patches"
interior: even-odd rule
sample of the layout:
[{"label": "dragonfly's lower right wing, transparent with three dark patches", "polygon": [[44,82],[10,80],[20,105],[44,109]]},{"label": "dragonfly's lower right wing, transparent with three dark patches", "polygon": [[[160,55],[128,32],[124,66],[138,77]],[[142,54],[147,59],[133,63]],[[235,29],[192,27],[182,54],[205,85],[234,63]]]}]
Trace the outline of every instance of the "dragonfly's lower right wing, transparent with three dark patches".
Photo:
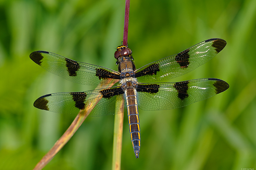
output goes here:
[{"label": "dragonfly's lower right wing, transparent with three dark patches", "polygon": [[143,110],[175,109],[210,98],[228,88],[227,82],[216,78],[138,84],[138,104]]}]

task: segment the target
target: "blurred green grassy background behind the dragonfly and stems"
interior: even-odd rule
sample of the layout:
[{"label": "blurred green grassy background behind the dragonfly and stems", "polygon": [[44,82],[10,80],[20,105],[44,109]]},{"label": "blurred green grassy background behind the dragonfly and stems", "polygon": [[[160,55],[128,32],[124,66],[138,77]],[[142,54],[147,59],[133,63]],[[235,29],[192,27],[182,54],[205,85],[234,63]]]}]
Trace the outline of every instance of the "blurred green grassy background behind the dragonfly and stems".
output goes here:
[{"label": "blurred green grassy background behind the dragonfly and stems", "polygon": [[[94,89],[30,60],[45,50],[117,69],[125,0],[0,1],[0,170],[31,170],[75,115],[33,107],[41,95]],[[169,80],[219,78],[230,88],[187,107],[140,112],[135,159],[127,116],[122,170],[256,169],[256,0],[131,0],[128,45],[137,68],[203,40],[227,46],[211,61]],[[44,170],[109,170],[114,116],[87,118]]]}]

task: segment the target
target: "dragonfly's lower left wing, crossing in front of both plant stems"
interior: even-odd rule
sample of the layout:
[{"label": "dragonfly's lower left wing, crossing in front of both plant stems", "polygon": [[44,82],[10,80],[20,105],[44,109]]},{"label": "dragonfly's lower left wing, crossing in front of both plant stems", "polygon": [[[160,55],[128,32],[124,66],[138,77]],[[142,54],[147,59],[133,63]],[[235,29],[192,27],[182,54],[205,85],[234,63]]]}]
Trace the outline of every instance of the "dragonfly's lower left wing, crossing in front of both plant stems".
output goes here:
[{"label": "dragonfly's lower left wing, crossing in front of both plant stems", "polygon": [[84,115],[80,110],[95,106],[89,116],[113,115],[120,113],[115,105],[120,104],[123,98],[120,86],[109,89],[97,89],[85,92],[62,92],[44,95],[34,102],[38,109],[51,112]]}]

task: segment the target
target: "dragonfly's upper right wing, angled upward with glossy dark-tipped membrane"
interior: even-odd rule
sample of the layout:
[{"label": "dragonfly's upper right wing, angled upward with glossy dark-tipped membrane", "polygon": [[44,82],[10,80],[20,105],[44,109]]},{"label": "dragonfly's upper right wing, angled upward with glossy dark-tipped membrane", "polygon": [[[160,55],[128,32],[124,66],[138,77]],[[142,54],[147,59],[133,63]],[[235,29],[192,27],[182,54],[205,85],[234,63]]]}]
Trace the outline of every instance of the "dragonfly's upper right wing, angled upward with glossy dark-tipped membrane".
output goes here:
[{"label": "dragonfly's upper right wing, angled upward with glossy dark-tipped membrane", "polygon": [[218,38],[205,40],[177,55],[143,66],[135,71],[135,77],[143,83],[175,78],[206,63],[217,55],[226,44],[225,40]]}]

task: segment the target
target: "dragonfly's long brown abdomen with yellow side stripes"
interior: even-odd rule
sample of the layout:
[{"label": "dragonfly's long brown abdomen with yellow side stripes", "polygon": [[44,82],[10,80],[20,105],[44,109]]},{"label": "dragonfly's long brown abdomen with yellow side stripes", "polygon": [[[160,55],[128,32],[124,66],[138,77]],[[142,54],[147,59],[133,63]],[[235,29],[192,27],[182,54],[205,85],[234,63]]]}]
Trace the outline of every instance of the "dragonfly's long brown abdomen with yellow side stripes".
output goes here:
[{"label": "dragonfly's long brown abdomen with yellow side stripes", "polygon": [[125,90],[129,130],[131,134],[131,142],[134,148],[136,158],[140,153],[140,119],[138,113],[137,91],[134,88]]}]

